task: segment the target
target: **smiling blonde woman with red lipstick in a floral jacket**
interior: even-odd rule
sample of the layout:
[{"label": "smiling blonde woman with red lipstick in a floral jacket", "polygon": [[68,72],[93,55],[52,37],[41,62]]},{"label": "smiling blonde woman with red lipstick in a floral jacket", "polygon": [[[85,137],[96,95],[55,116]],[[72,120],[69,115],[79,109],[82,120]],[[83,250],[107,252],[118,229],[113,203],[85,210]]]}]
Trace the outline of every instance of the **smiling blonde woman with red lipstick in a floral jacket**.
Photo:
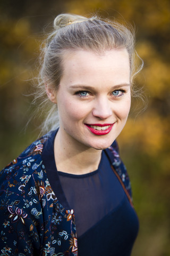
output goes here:
[{"label": "smiling blonde woman with red lipstick in a floral jacket", "polygon": [[1,255],[128,256],[138,218],[115,139],[137,73],[133,34],[61,14],[44,53],[50,131],[1,172]]}]

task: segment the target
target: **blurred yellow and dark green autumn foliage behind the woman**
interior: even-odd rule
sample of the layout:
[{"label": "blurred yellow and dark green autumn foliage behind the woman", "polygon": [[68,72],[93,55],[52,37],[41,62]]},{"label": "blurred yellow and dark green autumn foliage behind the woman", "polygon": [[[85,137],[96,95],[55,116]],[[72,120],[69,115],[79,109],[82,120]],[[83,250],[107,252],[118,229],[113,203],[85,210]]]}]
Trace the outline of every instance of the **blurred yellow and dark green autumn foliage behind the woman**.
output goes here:
[{"label": "blurred yellow and dark green autumn foliage behind the woman", "polygon": [[129,120],[118,137],[140,219],[132,256],[170,255],[170,1],[5,0],[0,11],[1,169],[39,135],[41,118],[27,126],[36,107],[31,95],[25,95],[34,91],[31,78],[37,76],[39,47],[56,15],[97,13],[135,26],[137,52],[144,61],[135,84],[143,87],[145,100],[132,100]]}]

